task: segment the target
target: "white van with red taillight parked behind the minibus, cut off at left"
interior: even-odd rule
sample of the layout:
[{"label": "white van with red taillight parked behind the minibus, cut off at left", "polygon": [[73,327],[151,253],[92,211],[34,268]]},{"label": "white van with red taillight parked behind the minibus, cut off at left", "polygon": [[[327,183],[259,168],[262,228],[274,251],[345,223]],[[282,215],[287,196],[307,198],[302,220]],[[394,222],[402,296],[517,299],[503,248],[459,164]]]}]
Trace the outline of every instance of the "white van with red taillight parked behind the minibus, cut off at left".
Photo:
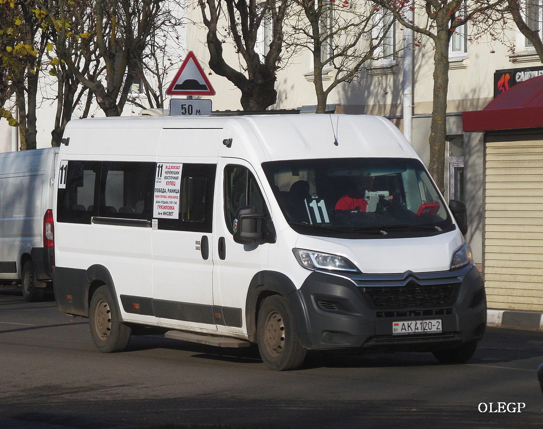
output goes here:
[{"label": "white van with red taillight parked behind the minibus, cut off at left", "polygon": [[0,282],[20,282],[24,299],[52,282],[53,193],[58,148],[0,153]]}]

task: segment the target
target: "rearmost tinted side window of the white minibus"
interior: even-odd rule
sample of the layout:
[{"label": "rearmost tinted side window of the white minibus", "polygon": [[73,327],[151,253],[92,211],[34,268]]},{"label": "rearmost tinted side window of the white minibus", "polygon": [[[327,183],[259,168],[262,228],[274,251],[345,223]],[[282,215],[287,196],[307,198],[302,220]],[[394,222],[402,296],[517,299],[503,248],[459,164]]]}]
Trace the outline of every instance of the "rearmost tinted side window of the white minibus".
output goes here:
[{"label": "rearmost tinted side window of the white minibus", "polygon": [[58,190],[58,222],[90,224],[91,217],[97,216],[101,165],[98,161],[68,161],[66,187]]}]

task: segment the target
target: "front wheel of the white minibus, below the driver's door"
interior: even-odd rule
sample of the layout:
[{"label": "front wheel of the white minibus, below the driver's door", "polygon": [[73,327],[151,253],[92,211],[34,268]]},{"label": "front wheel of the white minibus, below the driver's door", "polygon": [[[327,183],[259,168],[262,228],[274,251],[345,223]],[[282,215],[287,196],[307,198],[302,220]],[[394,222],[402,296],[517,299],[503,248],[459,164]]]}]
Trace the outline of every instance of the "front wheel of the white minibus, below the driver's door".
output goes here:
[{"label": "front wheel of the white minibus, below the driver's door", "polygon": [[256,330],[258,351],[268,368],[288,371],[301,367],[307,350],[301,345],[285,298],[273,295],[264,299]]}]

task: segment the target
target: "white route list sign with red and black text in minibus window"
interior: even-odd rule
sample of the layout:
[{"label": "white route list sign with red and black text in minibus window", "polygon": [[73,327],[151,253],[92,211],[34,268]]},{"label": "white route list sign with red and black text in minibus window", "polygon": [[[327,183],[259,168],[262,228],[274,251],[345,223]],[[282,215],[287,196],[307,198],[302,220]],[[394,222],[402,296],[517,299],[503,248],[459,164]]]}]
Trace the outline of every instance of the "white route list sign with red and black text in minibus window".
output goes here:
[{"label": "white route list sign with red and black text in minibus window", "polygon": [[154,218],[179,219],[181,167],[182,164],[156,165]]}]

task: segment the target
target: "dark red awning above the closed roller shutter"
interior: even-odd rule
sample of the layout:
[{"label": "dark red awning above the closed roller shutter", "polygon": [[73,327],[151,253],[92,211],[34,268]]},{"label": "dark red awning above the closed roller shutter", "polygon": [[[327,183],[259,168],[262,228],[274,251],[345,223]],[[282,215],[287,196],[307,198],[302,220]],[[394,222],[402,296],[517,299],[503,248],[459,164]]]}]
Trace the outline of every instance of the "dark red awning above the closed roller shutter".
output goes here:
[{"label": "dark red awning above the closed roller shutter", "polygon": [[512,86],[483,110],[462,112],[462,123],[468,133],[543,128],[543,76]]}]

